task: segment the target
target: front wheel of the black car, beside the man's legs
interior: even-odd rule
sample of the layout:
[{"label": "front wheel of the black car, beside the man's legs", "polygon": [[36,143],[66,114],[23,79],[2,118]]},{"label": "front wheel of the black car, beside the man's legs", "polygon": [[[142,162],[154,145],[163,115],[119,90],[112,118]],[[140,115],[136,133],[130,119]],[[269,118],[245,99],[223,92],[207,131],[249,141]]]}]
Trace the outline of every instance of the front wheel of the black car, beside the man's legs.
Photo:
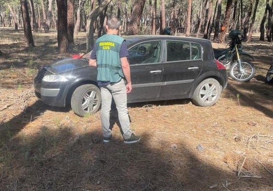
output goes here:
[{"label": "front wheel of the black car, beside the man's legs", "polygon": [[97,112],[101,105],[100,89],[92,84],[77,87],[71,98],[71,107],[74,113],[84,117]]}]

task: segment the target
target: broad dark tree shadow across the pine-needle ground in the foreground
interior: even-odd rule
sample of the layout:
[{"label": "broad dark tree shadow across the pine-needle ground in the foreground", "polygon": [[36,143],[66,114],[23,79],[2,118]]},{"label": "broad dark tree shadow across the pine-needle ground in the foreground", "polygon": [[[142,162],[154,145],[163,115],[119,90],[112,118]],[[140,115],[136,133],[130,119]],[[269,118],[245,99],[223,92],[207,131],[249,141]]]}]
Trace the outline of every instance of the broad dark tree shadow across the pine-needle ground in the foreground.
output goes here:
[{"label": "broad dark tree shadow across the pine-needle ground in the foreground", "polygon": [[[41,125],[38,131],[26,136],[20,130],[29,120],[18,121],[30,116],[35,119],[48,109],[37,108],[41,108],[40,102],[0,126],[5,129],[1,135],[9,131],[0,147],[0,191],[273,189],[270,176],[237,179],[235,172],[200,159],[205,158],[205,152],[194,152],[183,141],[169,145],[164,139],[153,139],[149,133],[142,134],[141,141],[132,145],[115,136],[109,143],[103,143],[101,131],[78,134],[73,124],[55,128]],[[151,141],[156,141],[157,146],[151,147]],[[263,174],[259,170],[257,173]]]}]

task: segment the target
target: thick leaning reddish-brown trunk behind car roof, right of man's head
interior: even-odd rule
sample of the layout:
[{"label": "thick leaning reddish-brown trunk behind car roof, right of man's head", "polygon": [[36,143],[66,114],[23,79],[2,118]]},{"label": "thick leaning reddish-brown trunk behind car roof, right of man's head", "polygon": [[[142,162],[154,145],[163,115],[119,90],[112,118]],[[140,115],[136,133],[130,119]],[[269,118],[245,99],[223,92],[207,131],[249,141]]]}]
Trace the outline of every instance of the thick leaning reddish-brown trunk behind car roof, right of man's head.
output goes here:
[{"label": "thick leaning reddish-brown trunk behind car roof, right of man's head", "polygon": [[137,35],[139,33],[140,19],[142,16],[145,0],[135,0],[131,18],[128,24],[127,35]]}]

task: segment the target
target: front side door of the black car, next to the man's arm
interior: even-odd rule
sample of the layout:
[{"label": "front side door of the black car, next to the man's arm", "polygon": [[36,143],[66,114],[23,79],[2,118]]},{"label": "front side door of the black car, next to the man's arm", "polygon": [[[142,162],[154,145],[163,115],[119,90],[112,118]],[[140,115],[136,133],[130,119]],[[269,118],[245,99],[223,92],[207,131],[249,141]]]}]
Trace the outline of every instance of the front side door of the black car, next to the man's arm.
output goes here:
[{"label": "front side door of the black car, next to the man's arm", "polygon": [[127,94],[128,102],[141,102],[159,97],[163,63],[162,41],[147,41],[128,50],[132,92]]}]

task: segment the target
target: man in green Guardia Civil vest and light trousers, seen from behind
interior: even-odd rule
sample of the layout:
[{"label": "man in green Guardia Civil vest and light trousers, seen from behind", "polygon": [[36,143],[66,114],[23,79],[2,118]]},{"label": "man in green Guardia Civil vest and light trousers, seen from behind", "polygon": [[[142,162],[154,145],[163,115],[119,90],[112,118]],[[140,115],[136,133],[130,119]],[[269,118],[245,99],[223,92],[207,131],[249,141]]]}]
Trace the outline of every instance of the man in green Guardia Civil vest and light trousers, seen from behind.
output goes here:
[{"label": "man in green Guardia Civil vest and light trousers, seen from behind", "polygon": [[127,60],[128,51],[124,38],[118,35],[121,29],[120,20],[109,18],[106,25],[107,34],[97,39],[89,65],[97,67],[97,82],[101,89],[101,124],[103,141],[109,142],[112,131],[109,128],[112,98],[118,111],[125,143],[135,143],[139,136],[132,133],[127,109],[127,93],[131,92],[132,84],[130,67]]}]

